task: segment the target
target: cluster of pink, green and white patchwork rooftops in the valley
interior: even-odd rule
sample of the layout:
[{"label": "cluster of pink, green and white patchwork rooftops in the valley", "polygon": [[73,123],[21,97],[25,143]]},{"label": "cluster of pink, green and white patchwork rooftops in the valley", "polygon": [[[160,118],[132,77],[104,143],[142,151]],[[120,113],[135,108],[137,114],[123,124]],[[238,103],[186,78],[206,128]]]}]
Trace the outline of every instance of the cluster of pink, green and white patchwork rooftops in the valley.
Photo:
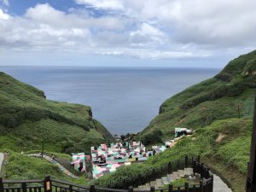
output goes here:
[{"label": "cluster of pink, green and white patchwork rooftops in the valley", "polygon": [[[79,172],[92,172],[93,178],[99,178],[110,172],[115,172],[120,166],[130,166],[133,163],[140,163],[148,160],[148,157],[161,153],[166,148],[172,146],[182,138],[186,132],[192,132],[186,128],[178,128],[178,134],[174,140],[167,141],[165,145],[152,146],[152,150],[148,150],[142,142],[124,142],[124,143],[102,143],[100,146],[90,148],[90,154],[73,154],[71,164],[73,168]],[[176,133],[176,132],[175,132]],[[91,164],[91,169],[86,170],[87,165]]]}]

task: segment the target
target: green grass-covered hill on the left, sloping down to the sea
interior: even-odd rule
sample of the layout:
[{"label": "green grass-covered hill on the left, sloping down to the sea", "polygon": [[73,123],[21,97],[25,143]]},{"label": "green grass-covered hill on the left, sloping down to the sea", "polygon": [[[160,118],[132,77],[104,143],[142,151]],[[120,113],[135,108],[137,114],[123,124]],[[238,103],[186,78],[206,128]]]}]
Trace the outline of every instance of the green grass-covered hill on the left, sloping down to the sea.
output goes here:
[{"label": "green grass-covered hill on the left, sloping down to the sea", "polygon": [[17,152],[45,150],[89,152],[90,146],[113,139],[92,119],[90,107],[54,102],[44,92],[0,73],[0,148]]}]

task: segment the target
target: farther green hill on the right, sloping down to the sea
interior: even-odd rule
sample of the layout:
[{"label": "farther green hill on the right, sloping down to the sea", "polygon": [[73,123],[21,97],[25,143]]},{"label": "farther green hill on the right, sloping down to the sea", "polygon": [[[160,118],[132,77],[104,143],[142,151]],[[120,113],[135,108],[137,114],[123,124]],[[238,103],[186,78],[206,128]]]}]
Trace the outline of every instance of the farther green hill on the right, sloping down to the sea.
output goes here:
[{"label": "farther green hill on the right, sloping down to the sea", "polygon": [[256,51],[241,55],[212,79],[195,84],[160,106],[155,117],[138,138],[146,144],[150,139],[173,137],[175,127],[198,129],[219,119],[251,118],[256,88]]}]

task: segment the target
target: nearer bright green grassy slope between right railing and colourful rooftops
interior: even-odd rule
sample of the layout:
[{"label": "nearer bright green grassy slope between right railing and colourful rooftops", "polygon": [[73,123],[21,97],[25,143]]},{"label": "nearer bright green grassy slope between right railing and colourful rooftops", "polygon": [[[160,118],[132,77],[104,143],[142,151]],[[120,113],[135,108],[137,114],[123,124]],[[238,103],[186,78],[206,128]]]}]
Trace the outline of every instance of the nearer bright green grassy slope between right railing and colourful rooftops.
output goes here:
[{"label": "nearer bright green grassy slope between right railing and colourful rooftops", "polygon": [[[219,133],[225,137],[218,143],[216,139]],[[143,164],[121,167],[117,172],[100,177],[96,183],[104,186],[109,181],[119,182],[134,173],[148,172],[155,166],[181,159],[187,154],[201,154],[201,161],[222,175],[234,192],[241,192],[246,179],[251,134],[251,119],[218,120],[212,125],[198,129],[193,137],[184,137],[173,148],[150,157]]]}]

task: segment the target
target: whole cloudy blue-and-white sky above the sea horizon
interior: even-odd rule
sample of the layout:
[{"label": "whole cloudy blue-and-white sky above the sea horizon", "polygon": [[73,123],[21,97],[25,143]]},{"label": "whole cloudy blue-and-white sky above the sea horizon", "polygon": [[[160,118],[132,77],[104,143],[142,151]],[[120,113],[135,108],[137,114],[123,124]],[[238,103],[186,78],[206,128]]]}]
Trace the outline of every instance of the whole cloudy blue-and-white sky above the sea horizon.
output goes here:
[{"label": "whole cloudy blue-and-white sky above the sea horizon", "polygon": [[0,65],[224,67],[255,0],[0,0]]}]

